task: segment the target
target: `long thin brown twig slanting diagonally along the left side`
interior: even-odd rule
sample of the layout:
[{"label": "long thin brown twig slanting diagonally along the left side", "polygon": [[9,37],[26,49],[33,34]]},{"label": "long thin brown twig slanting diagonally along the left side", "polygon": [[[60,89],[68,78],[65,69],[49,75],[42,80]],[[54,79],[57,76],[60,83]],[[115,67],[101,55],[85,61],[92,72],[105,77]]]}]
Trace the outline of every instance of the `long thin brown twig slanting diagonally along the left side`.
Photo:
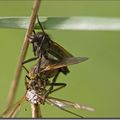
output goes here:
[{"label": "long thin brown twig slanting diagonally along the left side", "polygon": [[34,5],[33,5],[33,9],[32,9],[29,27],[28,27],[28,30],[27,30],[25,38],[24,38],[23,46],[22,46],[21,51],[20,51],[20,56],[19,56],[16,71],[15,71],[15,76],[13,78],[13,81],[12,81],[12,84],[10,87],[10,91],[8,94],[8,106],[7,106],[6,110],[10,109],[11,105],[13,104],[14,98],[15,98],[15,94],[16,94],[16,90],[17,90],[17,86],[19,83],[19,78],[20,78],[20,74],[21,74],[21,70],[22,70],[22,63],[25,59],[28,45],[29,45],[28,36],[30,36],[32,34],[35,20],[36,20],[36,16],[37,16],[37,13],[38,13],[38,10],[40,7],[40,2],[41,2],[41,0],[34,0]]}]

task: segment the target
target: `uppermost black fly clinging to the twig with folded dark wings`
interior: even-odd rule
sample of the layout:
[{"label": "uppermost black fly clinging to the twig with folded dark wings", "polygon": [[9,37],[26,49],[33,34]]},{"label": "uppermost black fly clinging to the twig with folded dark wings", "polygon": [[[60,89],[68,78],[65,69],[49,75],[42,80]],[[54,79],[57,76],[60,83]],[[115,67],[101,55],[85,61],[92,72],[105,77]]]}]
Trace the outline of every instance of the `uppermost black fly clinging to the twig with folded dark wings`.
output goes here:
[{"label": "uppermost black fly clinging to the twig with folded dark wings", "polygon": [[[38,71],[41,65],[41,58],[44,56],[46,59],[55,59],[62,60],[64,58],[73,57],[67,50],[65,50],[62,46],[51,40],[50,36],[44,31],[43,26],[41,25],[39,18],[37,16],[37,21],[39,26],[41,27],[42,32],[33,32],[34,35],[30,36],[30,43],[33,46],[34,58],[30,58],[25,60],[23,64],[30,62],[32,60],[39,59],[38,61]],[[69,69],[66,67],[62,67],[59,70],[63,74],[69,73]]]}]

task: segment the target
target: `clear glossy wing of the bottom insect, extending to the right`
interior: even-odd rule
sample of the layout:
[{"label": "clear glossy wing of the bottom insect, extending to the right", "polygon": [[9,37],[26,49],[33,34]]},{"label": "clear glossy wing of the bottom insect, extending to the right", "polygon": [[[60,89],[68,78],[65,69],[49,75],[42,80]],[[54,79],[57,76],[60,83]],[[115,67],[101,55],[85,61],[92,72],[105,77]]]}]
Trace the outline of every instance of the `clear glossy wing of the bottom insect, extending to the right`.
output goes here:
[{"label": "clear glossy wing of the bottom insect, extending to the right", "polygon": [[58,105],[59,107],[62,108],[75,108],[75,109],[82,109],[82,110],[87,110],[87,111],[94,111],[94,109],[92,107],[89,107],[87,105],[82,105],[82,104],[78,104],[78,103],[73,103],[67,100],[63,100],[63,99],[58,99],[58,98],[54,98],[54,97],[49,97],[49,101]]}]

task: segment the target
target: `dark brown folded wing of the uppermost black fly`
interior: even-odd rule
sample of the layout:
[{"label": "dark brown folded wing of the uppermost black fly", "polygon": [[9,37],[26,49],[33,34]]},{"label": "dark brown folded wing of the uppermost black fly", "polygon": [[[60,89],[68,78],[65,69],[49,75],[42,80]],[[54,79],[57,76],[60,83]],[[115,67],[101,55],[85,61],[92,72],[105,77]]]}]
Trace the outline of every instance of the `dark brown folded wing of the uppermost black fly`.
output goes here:
[{"label": "dark brown folded wing of the uppermost black fly", "polygon": [[52,41],[51,47],[49,49],[49,53],[56,56],[56,58],[58,59],[73,57],[71,53],[69,53],[67,50],[65,50],[55,41]]}]

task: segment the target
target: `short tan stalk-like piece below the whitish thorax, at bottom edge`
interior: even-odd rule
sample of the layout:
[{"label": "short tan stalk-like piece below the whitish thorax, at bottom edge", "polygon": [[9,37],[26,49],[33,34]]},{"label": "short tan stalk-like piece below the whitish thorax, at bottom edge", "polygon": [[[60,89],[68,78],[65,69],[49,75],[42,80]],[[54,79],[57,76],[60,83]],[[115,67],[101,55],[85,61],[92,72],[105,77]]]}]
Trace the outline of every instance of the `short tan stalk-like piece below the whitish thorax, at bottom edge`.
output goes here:
[{"label": "short tan stalk-like piece below the whitish thorax, at bottom edge", "polygon": [[40,106],[37,104],[31,104],[32,118],[42,118]]}]

